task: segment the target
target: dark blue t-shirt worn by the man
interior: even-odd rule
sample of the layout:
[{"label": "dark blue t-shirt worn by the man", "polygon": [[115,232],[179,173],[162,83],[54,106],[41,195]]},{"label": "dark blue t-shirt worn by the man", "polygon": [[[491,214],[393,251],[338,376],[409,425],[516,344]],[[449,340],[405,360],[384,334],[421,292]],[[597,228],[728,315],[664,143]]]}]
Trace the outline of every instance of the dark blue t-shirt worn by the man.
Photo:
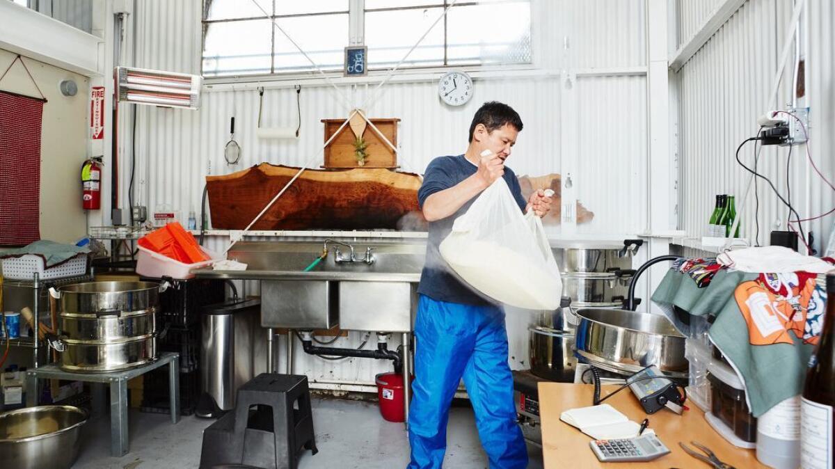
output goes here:
[{"label": "dark blue t-shirt worn by the man", "polygon": [[[442,156],[432,160],[423,175],[423,184],[417,191],[417,203],[423,209],[426,199],[436,192],[449,189],[473,175],[478,166],[464,158],[463,154],[458,156]],[[528,204],[522,196],[522,189],[519,187],[519,179],[513,170],[504,167],[504,181],[508,183],[510,193],[514,194],[519,208],[524,210]],[[469,199],[466,204],[458,209],[455,214],[445,219],[439,219],[429,223],[429,239],[426,245],[426,264],[420,277],[420,285],[417,285],[417,293],[427,295],[429,298],[450,303],[461,303],[464,305],[488,305],[482,295],[478,295],[469,285],[458,280],[458,276],[452,273],[446,261],[441,257],[438,246],[453,229],[453,222],[459,216],[465,214],[478,195]],[[487,255],[487,253],[485,253]]]}]

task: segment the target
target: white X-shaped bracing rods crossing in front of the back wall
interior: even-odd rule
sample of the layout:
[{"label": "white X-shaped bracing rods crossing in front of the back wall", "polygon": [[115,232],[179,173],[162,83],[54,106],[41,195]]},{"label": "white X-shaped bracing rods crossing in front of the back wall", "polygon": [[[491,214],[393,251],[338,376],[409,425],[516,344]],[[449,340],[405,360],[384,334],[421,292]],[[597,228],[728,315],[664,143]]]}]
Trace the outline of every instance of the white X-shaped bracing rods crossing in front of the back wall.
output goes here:
[{"label": "white X-shaped bracing rods crossing in front of the back wall", "polygon": [[[398,62],[398,63],[397,63],[397,65],[396,65],[394,68],[392,68],[392,70],[388,73],[388,75],[386,76],[386,78],[383,78],[383,80],[382,80],[382,81],[381,81],[381,82],[377,85],[377,88],[374,88],[374,89],[372,90],[372,93],[374,93],[374,94],[372,95],[372,97],[370,97],[370,98],[366,98],[366,99],[365,99],[365,101],[364,101],[364,102],[362,103],[362,105],[360,106],[360,108],[365,108],[365,104],[366,104],[366,103],[373,103],[374,101],[376,101],[376,100],[377,100],[377,98],[378,98],[378,96],[379,96],[379,94],[380,94],[380,88],[382,88],[382,85],[386,84],[386,83],[388,82],[388,80],[390,80],[390,79],[394,76],[394,73],[396,73],[396,72],[397,72],[397,69],[398,69],[398,68],[400,68],[400,66],[402,65],[402,63],[403,63],[403,62],[405,62],[405,61],[406,61],[406,59],[409,57],[409,55],[411,55],[411,54],[412,54],[412,51],[414,51],[414,49],[415,49],[415,48],[417,48],[417,46],[418,46],[418,45],[420,45],[420,43],[422,43],[422,42],[423,42],[423,39],[427,37],[428,33],[429,33],[430,31],[432,31],[432,29],[435,27],[435,25],[436,25],[436,24],[438,24],[438,22],[441,20],[441,18],[443,18],[443,17],[445,17],[445,16],[447,15],[447,12],[449,11],[449,8],[452,8],[452,7],[453,7],[453,5],[455,5],[455,3],[457,3],[457,2],[458,2],[458,0],[453,0],[453,2],[452,2],[452,3],[449,3],[449,5],[447,6],[447,8],[444,8],[443,13],[441,13],[441,15],[440,15],[440,16],[438,16],[438,18],[435,20],[435,22],[434,22],[434,23],[432,23],[432,25],[431,25],[431,26],[430,26],[430,27],[426,30],[426,32],[425,32],[425,33],[423,33],[423,36],[421,36],[419,39],[417,39],[417,43],[415,43],[415,44],[412,46],[412,48],[410,48],[410,49],[408,50],[408,52],[406,53],[406,55],[404,55],[404,56],[403,56],[403,58],[401,58],[401,59],[400,59],[400,62]],[[264,15],[265,15],[265,16],[270,16],[270,15],[268,15],[268,14],[266,13],[266,11],[264,10],[264,8],[261,8],[261,5],[259,5],[259,4],[256,2],[256,0],[252,0],[252,3],[255,3],[255,4],[256,4],[256,7],[258,7],[258,9],[260,9],[260,10],[261,10],[261,13],[264,13]],[[327,77],[327,75],[326,75],[324,72],[322,72],[321,68],[319,68],[319,66],[318,66],[318,65],[316,65],[316,63],[315,63],[315,62],[313,62],[313,60],[310,58],[310,56],[308,56],[308,55],[305,53],[305,51],[304,51],[304,50],[302,50],[302,49],[301,49],[301,47],[299,47],[299,45],[296,43],[296,41],[294,41],[294,40],[290,37],[290,35],[289,35],[289,34],[287,34],[287,33],[286,33],[283,29],[281,29],[281,26],[279,26],[279,25],[278,25],[278,23],[276,23],[276,20],[275,20],[275,19],[272,19],[271,21],[272,21],[273,25],[274,25],[274,26],[276,26],[276,28],[278,28],[278,29],[279,29],[279,31],[281,31],[281,33],[282,33],[282,34],[284,34],[284,35],[285,35],[285,37],[286,37],[286,38],[287,38],[287,39],[288,39],[288,40],[289,40],[289,41],[290,41],[290,42],[291,42],[294,46],[296,46],[296,48],[299,50],[299,52],[301,52],[301,54],[305,56],[305,58],[307,59],[307,61],[308,61],[308,62],[310,62],[310,63],[313,65],[313,67],[314,67],[314,68],[316,68],[316,71],[317,71],[317,72],[319,72],[319,73],[321,73],[322,77],[324,77],[324,78],[325,78],[326,83],[330,84],[330,85],[331,85],[331,87],[332,87],[332,88],[334,88],[334,89],[337,91],[337,93],[339,93],[339,96],[340,96],[340,97],[342,98],[342,100],[343,100],[343,104],[344,104],[344,102],[347,102],[347,98],[345,98],[345,95],[344,95],[344,93],[342,93],[342,90],[341,90],[341,89],[339,89],[339,88],[337,87],[337,85],[336,85],[335,83],[333,83],[333,82],[331,81],[331,79],[330,79],[330,78],[328,78],[328,77]],[[349,102],[349,103],[350,103],[350,102]],[[350,108],[350,105],[349,105],[348,107]],[[372,129],[374,129],[374,130],[377,132],[377,134],[378,134],[378,135],[382,138],[382,140],[383,140],[386,144],[388,144],[388,146],[389,146],[389,147],[391,147],[391,148],[394,150],[394,152],[395,152],[395,153],[397,153],[397,149],[394,147],[394,145],[392,145],[392,143],[391,143],[390,141],[388,141],[388,139],[387,139],[387,138],[386,138],[386,137],[382,134],[382,132],[380,132],[380,129],[377,129],[377,126],[375,126],[374,124],[372,124],[371,119],[368,119],[368,118],[365,116],[365,114],[363,114],[362,112],[360,112],[360,111],[359,111],[359,108],[354,108],[354,109],[351,111],[351,113],[348,115],[348,118],[347,118],[347,119],[345,119],[345,122],[343,122],[343,123],[342,123],[342,125],[341,125],[341,126],[339,126],[339,129],[337,129],[337,131],[336,131],[336,132],[334,132],[334,134],[333,134],[333,135],[331,135],[331,138],[330,138],[330,139],[328,139],[328,140],[325,142],[325,144],[323,144],[323,145],[322,145],[321,149],[319,149],[319,150],[317,150],[317,151],[316,151],[316,154],[314,154],[314,155],[311,157],[311,159],[310,159],[310,160],[309,160],[309,161],[308,161],[308,162],[307,162],[304,166],[302,166],[302,167],[301,167],[301,169],[299,169],[299,170],[298,170],[298,172],[297,172],[297,173],[296,173],[296,174],[295,174],[295,175],[294,175],[294,176],[293,176],[293,177],[292,177],[289,181],[287,181],[287,184],[285,184],[285,185],[284,185],[284,187],[283,187],[283,188],[281,188],[281,190],[278,192],[278,194],[276,194],[276,196],[275,196],[275,197],[273,197],[273,198],[272,198],[272,200],[270,201],[270,203],[269,203],[269,204],[266,204],[266,206],[264,207],[264,209],[262,209],[262,210],[261,210],[261,212],[260,212],[259,214],[257,214],[257,215],[256,215],[256,218],[255,218],[255,219],[252,219],[252,221],[250,222],[250,224],[246,225],[246,228],[245,228],[245,229],[240,230],[240,231],[239,231],[239,232],[237,232],[235,235],[230,235],[230,244],[229,244],[229,246],[227,246],[227,247],[226,247],[226,249],[223,251],[223,255],[225,255],[226,253],[228,253],[228,252],[229,252],[229,250],[230,250],[230,249],[232,249],[232,246],[234,246],[234,245],[235,245],[235,243],[237,243],[238,241],[240,241],[241,239],[243,239],[244,234],[245,234],[247,231],[249,231],[249,230],[252,228],[252,226],[253,226],[254,224],[256,224],[256,222],[257,222],[259,219],[261,219],[261,216],[263,216],[263,215],[266,213],[266,211],[267,211],[267,210],[269,210],[269,209],[272,207],[272,204],[275,204],[275,203],[276,203],[276,200],[278,200],[278,199],[281,197],[281,195],[283,195],[283,194],[286,192],[286,190],[287,190],[287,189],[291,186],[291,184],[293,184],[294,182],[296,182],[296,179],[298,179],[298,178],[299,178],[299,176],[301,176],[301,174],[305,172],[305,170],[307,169],[307,167],[308,167],[310,164],[312,164],[312,162],[313,162],[313,161],[315,161],[315,159],[316,159],[316,158],[318,158],[318,157],[319,157],[319,155],[321,155],[321,154],[324,152],[324,150],[326,149],[327,145],[331,144],[331,141],[333,141],[333,139],[336,139],[336,138],[337,138],[337,135],[338,135],[340,132],[342,132],[342,129],[345,129],[345,126],[346,126],[346,125],[347,125],[347,124],[351,121],[351,118],[352,118],[355,114],[357,114],[357,113],[360,113],[360,115],[362,116],[362,119],[365,119],[365,120],[366,120],[366,122],[367,122],[369,125],[371,125]]]}]

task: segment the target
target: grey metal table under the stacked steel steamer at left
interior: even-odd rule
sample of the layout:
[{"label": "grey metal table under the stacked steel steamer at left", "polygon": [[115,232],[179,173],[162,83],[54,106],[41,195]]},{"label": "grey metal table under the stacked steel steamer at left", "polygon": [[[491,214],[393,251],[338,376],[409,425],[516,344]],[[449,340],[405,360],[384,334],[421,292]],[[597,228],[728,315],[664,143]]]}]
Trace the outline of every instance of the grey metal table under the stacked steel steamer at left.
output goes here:
[{"label": "grey metal table under the stacked steel steamer at left", "polygon": [[[163,352],[159,359],[130,370],[106,373],[77,373],[63,371],[57,365],[42,366],[26,372],[26,406],[38,404],[38,380],[86,381],[110,385],[110,454],[128,453],[128,381],[148,371],[168,365],[170,376],[171,423],[180,421],[180,354]],[[94,396],[94,405],[97,405]]]}]

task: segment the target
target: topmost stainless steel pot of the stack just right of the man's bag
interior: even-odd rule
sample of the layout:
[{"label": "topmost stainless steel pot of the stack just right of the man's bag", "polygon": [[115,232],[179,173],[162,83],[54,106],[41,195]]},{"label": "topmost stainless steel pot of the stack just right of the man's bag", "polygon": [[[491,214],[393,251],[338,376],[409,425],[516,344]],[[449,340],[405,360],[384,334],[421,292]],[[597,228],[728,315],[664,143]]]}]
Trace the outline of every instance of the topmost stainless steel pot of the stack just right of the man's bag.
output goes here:
[{"label": "topmost stainless steel pot of the stack just right of the man's bag", "polygon": [[632,268],[632,257],[643,243],[641,240],[610,241],[554,241],[551,243],[554,260],[566,274],[574,272],[607,273]]}]

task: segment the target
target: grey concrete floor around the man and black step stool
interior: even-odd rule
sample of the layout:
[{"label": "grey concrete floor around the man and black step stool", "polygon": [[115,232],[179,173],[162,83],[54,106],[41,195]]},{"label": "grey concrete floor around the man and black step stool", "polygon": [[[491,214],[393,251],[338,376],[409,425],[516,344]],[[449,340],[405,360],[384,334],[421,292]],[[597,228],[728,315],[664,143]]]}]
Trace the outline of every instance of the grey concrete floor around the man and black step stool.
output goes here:
[{"label": "grey concrete floor around the man and black step stool", "polygon": [[[299,469],[396,469],[409,461],[407,433],[402,424],[382,420],[374,402],[313,399],[316,446],[301,456]],[[110,456],[109,418],[90,421],[82,434],[78,469],[181,469],[200,464],[202,431],[214,420],[183,417],[176,425],[162,414],[131,410],[130,452]],[[447,431],[447,456],[444,467],[456,469],[488,467],[475,430],[473,411],[453,407]],[[529,468],[539,469],[542,453],[529,449]]]}]

